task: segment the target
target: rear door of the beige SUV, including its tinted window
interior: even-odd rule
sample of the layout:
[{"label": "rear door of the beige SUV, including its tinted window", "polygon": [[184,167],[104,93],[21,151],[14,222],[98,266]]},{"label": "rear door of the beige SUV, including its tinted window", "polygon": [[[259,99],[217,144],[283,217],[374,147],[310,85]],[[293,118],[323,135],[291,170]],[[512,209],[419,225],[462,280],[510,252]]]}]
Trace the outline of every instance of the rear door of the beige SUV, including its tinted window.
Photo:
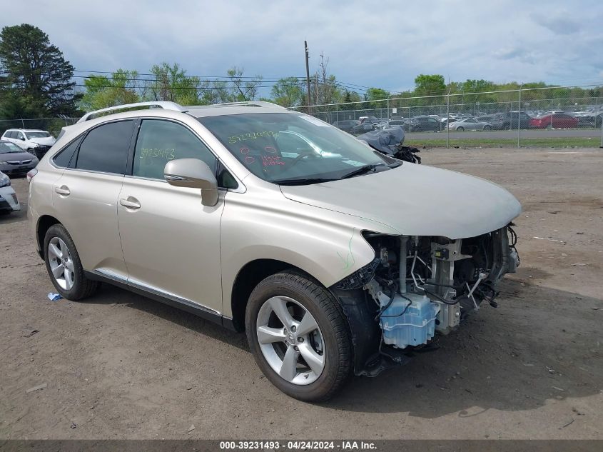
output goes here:
[{"label": "rear door of the beige SUV, including its tinted window", "polygon": [[120,281],[123,262],[117,200],[126,173],[135,121],[113,121],[88,131],[54,184],[54,209],[74,239],[83,268]]}]

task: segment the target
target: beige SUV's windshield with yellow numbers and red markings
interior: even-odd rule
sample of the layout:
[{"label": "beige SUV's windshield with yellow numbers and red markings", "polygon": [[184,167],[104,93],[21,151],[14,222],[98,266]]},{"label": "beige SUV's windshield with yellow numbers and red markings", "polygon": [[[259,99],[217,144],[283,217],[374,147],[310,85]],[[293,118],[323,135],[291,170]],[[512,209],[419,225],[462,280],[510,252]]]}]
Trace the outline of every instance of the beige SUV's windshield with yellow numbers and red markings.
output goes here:
[{"label": "beige SUV's windshield with yellow numbers and red markings", "polygon": [[276,184],[342,179],[361,167],[375,171],[395,162],[304,114],[207,116],[198,121],[255,176]]}]

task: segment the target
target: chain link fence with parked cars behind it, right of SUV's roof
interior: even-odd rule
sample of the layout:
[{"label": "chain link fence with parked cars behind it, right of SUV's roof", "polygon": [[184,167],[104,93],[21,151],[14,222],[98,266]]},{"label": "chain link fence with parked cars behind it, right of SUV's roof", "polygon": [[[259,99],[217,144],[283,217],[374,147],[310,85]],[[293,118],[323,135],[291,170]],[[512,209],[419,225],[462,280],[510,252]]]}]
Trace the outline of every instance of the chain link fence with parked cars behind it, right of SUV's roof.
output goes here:
[{"label": "chain link fence with parked cars behind it, right of SUV's roof", "polygon": [[603,147],[603,86],[450,92],[295,110],[356,135],[401,126],[413,145]]}]

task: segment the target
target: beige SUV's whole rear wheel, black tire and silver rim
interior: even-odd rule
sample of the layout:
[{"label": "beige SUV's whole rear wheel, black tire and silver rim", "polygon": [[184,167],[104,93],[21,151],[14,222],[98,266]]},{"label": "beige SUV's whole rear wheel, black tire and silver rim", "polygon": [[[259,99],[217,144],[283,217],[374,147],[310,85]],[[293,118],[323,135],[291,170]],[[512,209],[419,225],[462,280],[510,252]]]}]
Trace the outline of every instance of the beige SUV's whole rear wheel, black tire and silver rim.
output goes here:
[{"label": "beige SUV's whole rear wheel, black tire and silver rim", "polygon": [[86,278],[76,245],[62,224],[54,224],[44,236],[46,271],[56,291],[68,300],[91,296],[98,283]]}]

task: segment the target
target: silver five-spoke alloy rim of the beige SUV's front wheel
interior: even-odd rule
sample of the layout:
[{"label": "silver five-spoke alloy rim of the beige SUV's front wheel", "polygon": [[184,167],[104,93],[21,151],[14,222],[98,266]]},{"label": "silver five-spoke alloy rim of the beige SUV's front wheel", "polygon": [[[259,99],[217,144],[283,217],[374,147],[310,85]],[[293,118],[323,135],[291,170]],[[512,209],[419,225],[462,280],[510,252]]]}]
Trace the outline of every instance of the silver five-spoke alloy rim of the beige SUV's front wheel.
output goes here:
[{"label": "silver five-spoke alloy rim of the beige SUV's front wheel", "polygon": [[260,350],[270,367],[289,383],[307,385],[325,368],[325,346],[315,318],[288,296],[266,300],[256,326]]}]

